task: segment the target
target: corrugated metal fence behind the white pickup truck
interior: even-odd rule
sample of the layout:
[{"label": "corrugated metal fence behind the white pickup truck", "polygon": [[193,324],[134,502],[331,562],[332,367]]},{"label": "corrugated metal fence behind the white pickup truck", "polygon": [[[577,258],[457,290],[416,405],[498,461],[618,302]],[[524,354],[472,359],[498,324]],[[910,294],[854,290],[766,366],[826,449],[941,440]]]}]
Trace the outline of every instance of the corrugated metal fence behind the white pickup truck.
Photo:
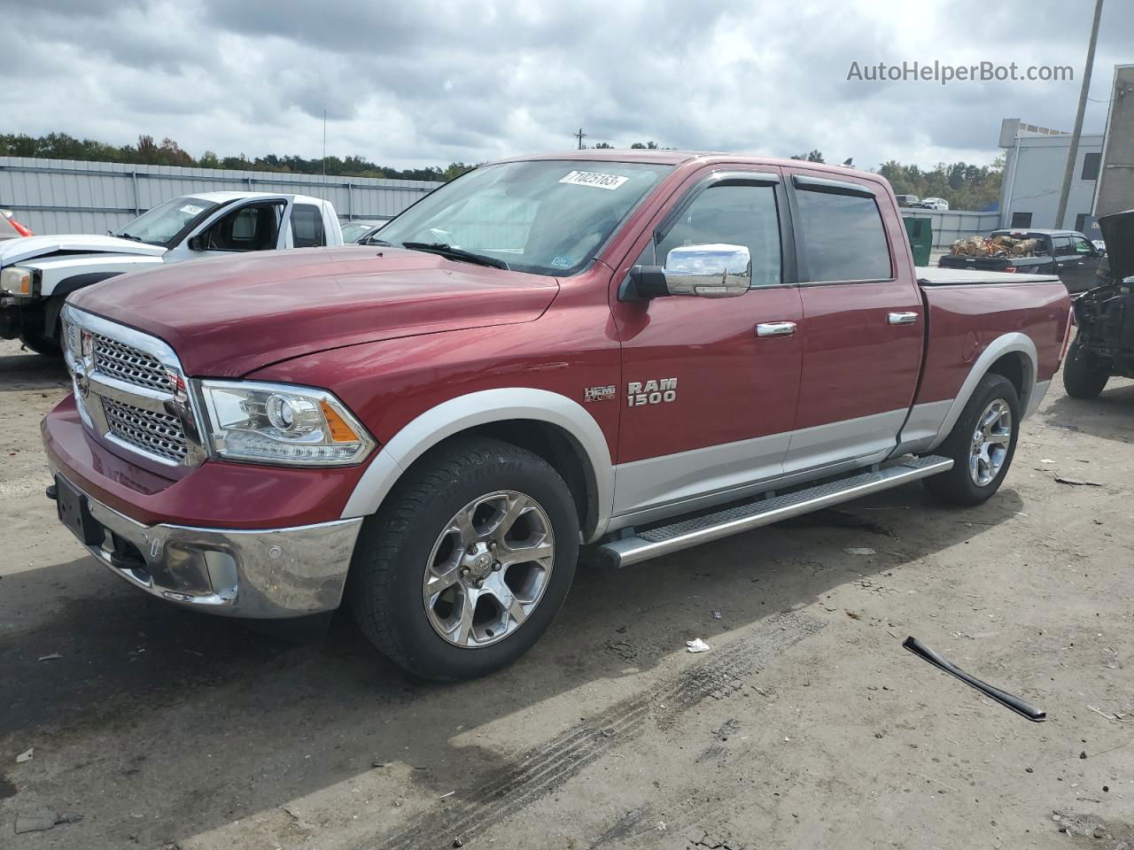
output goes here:
[{"label": "corrugated metal fence behind the white pickup truck", "polygon": [[330,201],[341,218],[391,216],[440,185],[0,156],[0,207],[36,233],[104,233],[167,198],[195,192],[298,193]]}]

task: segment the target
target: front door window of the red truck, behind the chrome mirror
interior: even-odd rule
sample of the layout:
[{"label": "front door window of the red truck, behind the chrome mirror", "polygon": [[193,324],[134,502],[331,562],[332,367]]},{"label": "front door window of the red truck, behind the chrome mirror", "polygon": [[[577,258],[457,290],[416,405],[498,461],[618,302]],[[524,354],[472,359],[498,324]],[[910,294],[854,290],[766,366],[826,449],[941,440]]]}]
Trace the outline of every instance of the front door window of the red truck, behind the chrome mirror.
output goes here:
[{"label": "front door window of the red truck, behind the chrome mirror", "polygon": [[743,245],[752,256],[752,286],[780,282],[779,214],[773,186],[711,186],[655,237],[655,263],[682,245]]}]

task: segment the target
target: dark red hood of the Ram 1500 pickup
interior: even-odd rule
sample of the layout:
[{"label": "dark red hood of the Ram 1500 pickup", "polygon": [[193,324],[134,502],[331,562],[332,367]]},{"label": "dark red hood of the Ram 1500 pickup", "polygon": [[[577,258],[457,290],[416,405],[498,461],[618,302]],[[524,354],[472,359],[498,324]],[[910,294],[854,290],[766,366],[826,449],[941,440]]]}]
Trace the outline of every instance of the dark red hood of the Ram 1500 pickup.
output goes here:
[{"label": "dark red hood of the Ram 1500 pickup", "polygon": [[331,348],[530,322],[555,278],[399,248],[299,248],[112,278],[69,304],[160,337],[186,373],[239,377]]}]

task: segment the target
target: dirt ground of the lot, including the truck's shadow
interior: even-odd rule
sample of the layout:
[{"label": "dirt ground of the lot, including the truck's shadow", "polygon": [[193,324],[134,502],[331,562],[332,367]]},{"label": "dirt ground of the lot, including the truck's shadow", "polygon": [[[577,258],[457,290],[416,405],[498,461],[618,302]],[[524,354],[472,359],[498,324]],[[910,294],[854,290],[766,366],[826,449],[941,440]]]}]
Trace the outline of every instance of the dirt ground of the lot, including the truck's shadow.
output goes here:
[{"label": "dirt ground of the lot, including the truck's shadow", "polygon": [[581,569],[531,654],[457,687],[85,555],[43,496],[65,383],[0,343],[0,848],[1134,847],[1132,382],[1057,380],[981,508],[912,485]]}]

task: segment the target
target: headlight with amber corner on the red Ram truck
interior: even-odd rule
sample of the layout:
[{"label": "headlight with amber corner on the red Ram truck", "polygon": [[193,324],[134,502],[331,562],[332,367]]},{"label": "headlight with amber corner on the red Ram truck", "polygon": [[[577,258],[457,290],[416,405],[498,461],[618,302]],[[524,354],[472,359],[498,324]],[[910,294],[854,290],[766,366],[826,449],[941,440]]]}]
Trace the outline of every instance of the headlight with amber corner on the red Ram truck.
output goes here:
[{"label": "headlight with amber corner on the red Ram truck", "polygon": [[201,381],[213,457],[297,466],[363,460],[374,441],[325,390],[252,381]]}]

